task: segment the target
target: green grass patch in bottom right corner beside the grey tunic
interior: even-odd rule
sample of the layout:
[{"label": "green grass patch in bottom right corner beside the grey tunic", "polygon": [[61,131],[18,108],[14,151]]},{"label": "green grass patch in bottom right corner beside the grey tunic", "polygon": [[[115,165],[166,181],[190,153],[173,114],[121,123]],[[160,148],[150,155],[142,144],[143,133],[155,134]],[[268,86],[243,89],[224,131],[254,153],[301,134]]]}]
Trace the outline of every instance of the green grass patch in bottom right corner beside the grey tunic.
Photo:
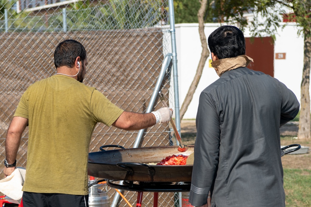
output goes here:
[{"label": "green grass patch in bottom right corner beside the grey tunic", "polygon": [[286,207],[311,206],[311,170],[284,169]]}]

